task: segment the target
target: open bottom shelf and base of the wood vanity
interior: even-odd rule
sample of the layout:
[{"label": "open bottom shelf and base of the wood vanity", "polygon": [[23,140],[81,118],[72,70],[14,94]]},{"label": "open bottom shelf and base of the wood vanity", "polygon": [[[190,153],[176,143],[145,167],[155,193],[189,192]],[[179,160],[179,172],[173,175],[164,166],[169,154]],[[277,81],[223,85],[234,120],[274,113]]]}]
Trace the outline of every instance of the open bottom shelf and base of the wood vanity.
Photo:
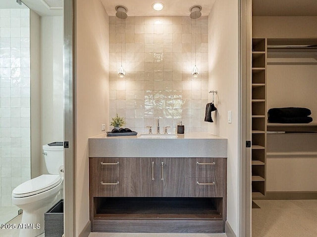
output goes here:
[{"label": "open bottom shelf and base of the wood vanity", "polygon": [[220,197],[94,197],[94,231],[222,233]]}]

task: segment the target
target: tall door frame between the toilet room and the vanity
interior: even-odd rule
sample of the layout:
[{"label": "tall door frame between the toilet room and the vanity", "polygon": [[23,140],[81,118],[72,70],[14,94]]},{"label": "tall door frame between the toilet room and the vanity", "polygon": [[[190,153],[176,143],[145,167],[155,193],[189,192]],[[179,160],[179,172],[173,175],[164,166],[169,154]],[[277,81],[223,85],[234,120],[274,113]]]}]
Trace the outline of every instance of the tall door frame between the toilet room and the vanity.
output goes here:
[{"label": "tall door frame between the toilet room and the vanity", "polygon": [[76,234],[75,199],[75,29],[76,0],[64,0],[64,236]]}]

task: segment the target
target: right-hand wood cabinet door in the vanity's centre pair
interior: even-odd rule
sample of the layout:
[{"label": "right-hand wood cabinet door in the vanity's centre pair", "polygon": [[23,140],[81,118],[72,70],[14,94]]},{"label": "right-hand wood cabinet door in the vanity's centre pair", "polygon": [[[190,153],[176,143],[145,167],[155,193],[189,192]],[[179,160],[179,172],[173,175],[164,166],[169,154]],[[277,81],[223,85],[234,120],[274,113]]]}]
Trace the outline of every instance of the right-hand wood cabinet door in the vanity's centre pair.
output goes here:
[{"label": "right-hand wood cabinet door in the vanity's centre pair", "polygon": [[158,197],[188,197],[188,158],[158,158]]}]

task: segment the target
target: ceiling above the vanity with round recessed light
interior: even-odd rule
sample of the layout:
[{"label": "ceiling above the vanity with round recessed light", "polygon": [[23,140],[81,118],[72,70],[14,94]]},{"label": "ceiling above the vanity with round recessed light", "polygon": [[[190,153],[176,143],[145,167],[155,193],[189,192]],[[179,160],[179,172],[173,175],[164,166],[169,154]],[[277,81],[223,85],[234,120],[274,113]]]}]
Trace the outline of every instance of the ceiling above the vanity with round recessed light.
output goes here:
[{"label": "ceiling above the vanity with round recessed light", "polygon": [[[128,8],[128,16],[189,16],[189,8],[193,5],[201,5],[202,15],[208,16],[215,0],[101,0],[109,16],[115,15],[115,6],[124,5]],[[164,8],[155,11],[152,8],[154,2],[161,2]]]}]

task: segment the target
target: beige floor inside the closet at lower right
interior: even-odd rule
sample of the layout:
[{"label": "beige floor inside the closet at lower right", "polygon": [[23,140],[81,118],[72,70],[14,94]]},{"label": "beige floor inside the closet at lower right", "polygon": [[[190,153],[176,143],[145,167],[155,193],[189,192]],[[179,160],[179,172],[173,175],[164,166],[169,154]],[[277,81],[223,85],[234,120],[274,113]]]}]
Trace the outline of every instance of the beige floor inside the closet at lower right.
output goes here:
[{"label": "beige floor inside the closet at lower right", "polygon": [[256,200],[252,237],[317,237],[317,200]]}]

